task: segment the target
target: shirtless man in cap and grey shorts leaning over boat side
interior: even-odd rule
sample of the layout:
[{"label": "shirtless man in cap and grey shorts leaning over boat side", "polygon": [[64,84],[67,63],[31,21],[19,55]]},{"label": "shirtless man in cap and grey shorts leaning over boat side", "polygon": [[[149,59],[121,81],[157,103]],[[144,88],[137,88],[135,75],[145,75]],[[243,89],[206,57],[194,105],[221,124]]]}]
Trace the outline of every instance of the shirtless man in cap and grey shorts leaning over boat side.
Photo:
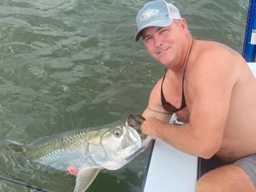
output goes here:
[{"label": "shirtless man in cap and grey shorts leaning over boat side", "polygon": [[[196,40],[179,10],[151,1],[136,17],[147,50],[168,71],[150,93],[141,131],[193,156],[224,164],[196,191],[256,191],[256,81],[242,56]],[[169,124],[175,113],[184,125]]]}]

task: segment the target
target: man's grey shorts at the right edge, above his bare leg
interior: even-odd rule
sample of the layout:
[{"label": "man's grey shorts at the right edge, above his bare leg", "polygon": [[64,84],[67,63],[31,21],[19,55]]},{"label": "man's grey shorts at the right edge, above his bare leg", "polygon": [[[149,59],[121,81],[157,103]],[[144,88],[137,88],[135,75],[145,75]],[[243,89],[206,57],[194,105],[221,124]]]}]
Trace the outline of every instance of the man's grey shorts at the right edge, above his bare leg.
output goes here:
[{"label": "man's grey shorts at the right edge, above his bare leg", "polygon": [[236,164],[241,167],[250,177],[256,188],[256,155],[243,157],[232,164]]}]

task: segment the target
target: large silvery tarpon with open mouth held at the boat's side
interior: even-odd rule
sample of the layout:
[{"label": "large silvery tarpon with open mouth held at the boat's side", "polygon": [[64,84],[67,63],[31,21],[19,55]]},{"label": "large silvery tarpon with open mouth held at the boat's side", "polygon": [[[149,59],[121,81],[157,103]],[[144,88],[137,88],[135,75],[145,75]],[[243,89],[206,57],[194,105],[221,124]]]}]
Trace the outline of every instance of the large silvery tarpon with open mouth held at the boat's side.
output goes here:
[{"label": "large silvery tarpon with open mouth held at the boat's side", "polygon": [[79,173],[74,191],[81,192],[100,170],[117,170],[145,150],[151,138],[138,133],[144,120],[143,116],[129,115],[125,125],[63,132],[29,145],[11,140],[8,143],[22,148],[35,163],[63,171],[70,165],[76,166]]}]

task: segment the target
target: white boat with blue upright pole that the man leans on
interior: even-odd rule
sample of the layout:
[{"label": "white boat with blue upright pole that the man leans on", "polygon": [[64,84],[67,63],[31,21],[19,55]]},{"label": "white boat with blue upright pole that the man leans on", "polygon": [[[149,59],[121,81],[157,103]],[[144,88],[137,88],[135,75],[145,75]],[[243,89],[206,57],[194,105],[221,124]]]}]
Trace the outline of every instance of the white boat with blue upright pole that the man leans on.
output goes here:
[{"label": "white boat with blue upright pole that the man leans on", "polygon": [[[250,0],[246,33],[244,35],[243,57],[256,77],[256,0]],[[170,123],[177,121],[175,116]],[[147,170],[141,192],[193,192],[196,181],[206,172],[217,168],[214,157],[201,157],[184,154],[168,143],[157,138],[151,147]]]}]

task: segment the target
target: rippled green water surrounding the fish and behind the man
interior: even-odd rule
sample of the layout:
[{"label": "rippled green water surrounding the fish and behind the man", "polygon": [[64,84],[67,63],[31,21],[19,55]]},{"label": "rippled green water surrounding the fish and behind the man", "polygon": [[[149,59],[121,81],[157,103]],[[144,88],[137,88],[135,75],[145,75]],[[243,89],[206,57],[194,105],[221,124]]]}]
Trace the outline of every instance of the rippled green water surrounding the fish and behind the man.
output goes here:
[{"label": "rippled green water surrounding the fish and behind the man", "polygon": [[[141,0],[0,1],[0,175],[52,191],[75,178],[6,146],[142,113],[164,67],[133,41]],[[248,0],[172,1],[193,36],[242,52]],[[99,173],[88,191],[140,191],[148,152]],[[172,179],[172,178],[170,178]],[[28,188],[0,180],[0,191]]]}]

